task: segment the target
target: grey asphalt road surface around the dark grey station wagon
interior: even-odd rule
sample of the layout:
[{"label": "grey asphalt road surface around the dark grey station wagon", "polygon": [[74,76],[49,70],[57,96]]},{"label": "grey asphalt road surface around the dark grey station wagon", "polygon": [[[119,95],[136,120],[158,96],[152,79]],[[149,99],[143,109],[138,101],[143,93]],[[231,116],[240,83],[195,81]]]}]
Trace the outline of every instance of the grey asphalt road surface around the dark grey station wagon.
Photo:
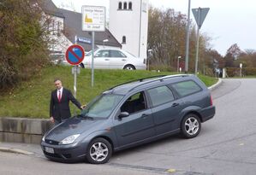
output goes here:
[{"label": "grey asphalt road surface around the dark grey station wagon", "polygon": [[168,137],[117,153],[101,166],[0,152],[0,174],[256,174],[256,79],[223,79],[211,94],[217,114],[193,139]]}]

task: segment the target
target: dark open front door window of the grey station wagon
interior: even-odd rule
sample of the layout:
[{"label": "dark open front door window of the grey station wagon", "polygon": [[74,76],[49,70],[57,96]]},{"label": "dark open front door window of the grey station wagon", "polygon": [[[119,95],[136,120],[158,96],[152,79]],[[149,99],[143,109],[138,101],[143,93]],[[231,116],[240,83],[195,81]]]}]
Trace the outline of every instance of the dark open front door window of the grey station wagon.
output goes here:
[{"label": "dark open front door window of the grey station wagon", "polygon": [[146,109],[146,100],[143,92],[128,97],[128,100],[122,104],[121,112],[133,114]]}]

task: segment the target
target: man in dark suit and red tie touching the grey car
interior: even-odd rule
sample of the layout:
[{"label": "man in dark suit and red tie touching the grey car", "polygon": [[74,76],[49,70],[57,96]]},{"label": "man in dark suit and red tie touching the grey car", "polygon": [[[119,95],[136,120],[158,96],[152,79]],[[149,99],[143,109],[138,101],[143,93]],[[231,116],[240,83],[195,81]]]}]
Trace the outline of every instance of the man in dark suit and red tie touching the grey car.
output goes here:
[{"label": "man in dark suit and red tie touching the grey car", "polygon": [[73,102],[77,108],[82,109],[83,106],[74,98],[70,90],[63,88],[60,79],[55,79],[54,84],[57,90],[51,92],[50,117],[51,122],[57,125],[71,117],[69,101]]}]

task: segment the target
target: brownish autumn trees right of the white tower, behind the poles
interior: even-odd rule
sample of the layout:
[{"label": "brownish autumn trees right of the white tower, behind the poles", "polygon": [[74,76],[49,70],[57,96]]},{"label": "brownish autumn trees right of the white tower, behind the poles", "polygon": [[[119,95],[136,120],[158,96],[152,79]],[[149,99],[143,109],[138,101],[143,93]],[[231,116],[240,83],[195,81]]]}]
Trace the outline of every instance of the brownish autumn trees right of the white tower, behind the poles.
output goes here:
[{"label": "brownish autumn trees right of the white tower, behind the poles", "polygon": [[[166,70],[176,70],[177,58],[185,58],[187,16],[174,9],[156,9],[150,7],[148,22],[148,49],[152,50],[151,66]],[[203,54],[209,45],[210,38],[199,35],[199,54]],[[194,69],[196,28],[190,27],[189,71]],[[200,57],[199,55],[199,57]]]}]

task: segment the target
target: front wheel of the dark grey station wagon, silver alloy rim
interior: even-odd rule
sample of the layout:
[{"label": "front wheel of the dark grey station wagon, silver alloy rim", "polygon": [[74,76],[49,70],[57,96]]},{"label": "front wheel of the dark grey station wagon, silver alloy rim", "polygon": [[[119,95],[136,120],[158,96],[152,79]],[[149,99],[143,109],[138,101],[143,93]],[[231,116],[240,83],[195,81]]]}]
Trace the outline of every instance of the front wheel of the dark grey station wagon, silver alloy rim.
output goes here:
[{"label": "front wheel of the dark grey station wagon, silver alloy rim", "polygon": [[104,164],[112,155],[111,144],[104,138],[92,140],[86,151],[86,160],[92,164]]}]

